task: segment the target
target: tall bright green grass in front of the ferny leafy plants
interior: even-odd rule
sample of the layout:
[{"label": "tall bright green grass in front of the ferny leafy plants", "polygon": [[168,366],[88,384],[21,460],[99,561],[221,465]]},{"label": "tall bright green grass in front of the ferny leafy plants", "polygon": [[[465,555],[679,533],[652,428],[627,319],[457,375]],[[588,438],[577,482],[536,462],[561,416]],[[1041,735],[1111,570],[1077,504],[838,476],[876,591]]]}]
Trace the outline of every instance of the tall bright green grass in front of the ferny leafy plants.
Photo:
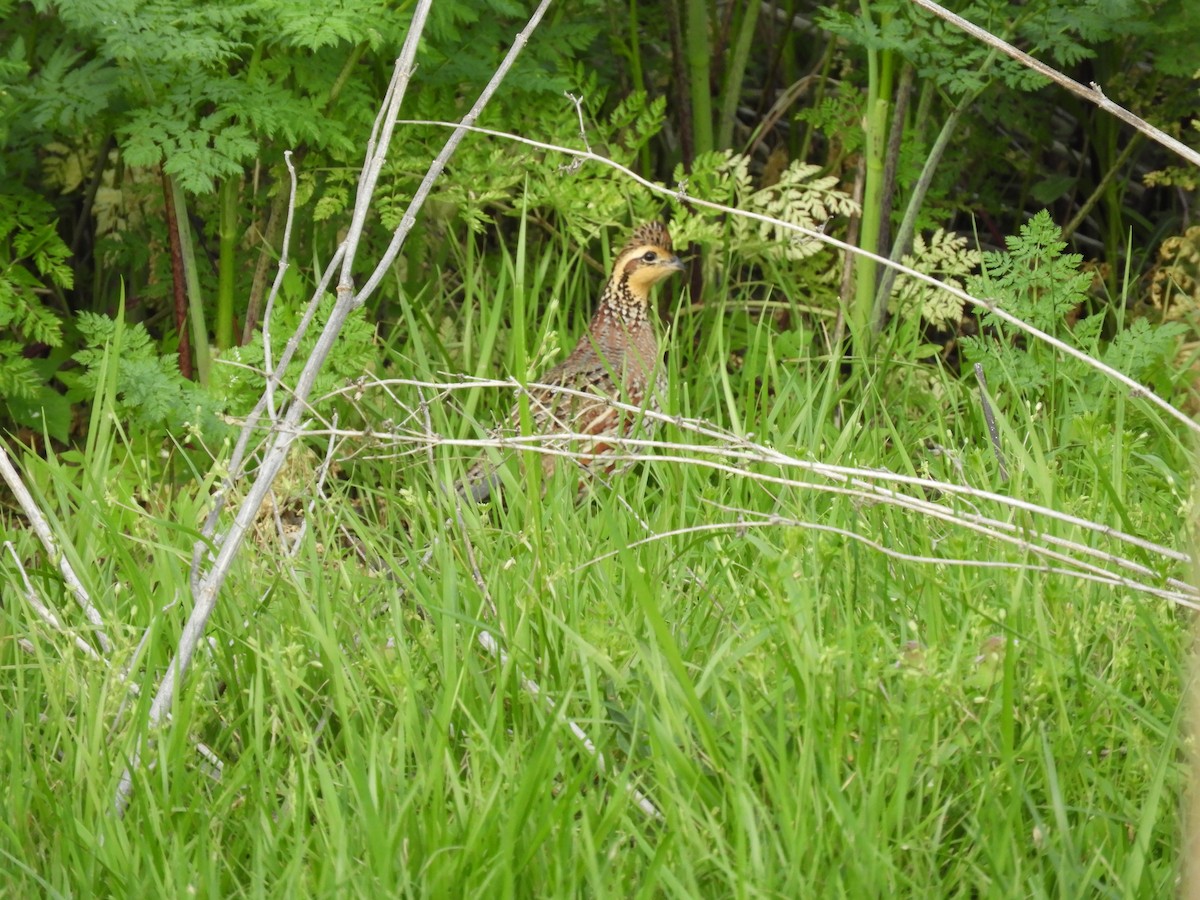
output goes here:
[{"label": "tall bright green grass in front of the ferny leafy plants", "polygon": [[[402,298],[378,374],[524,379],[551,348],[569,349],[599,276],[576,250],[532,245],[461,245],[460,282]],[[678,284],[667,290],[679,298]],[[817,344],[779,332],[746,299],[668,302],[672,412],[823,462],[965,478],[1182,541],[1186,484],[1152,463],[1186,458],[1166,428],[1130,440],[1096,427],[1067,448],[1056,436],[1070,422],[1009,409],[1002,485],[971,385],[889,362],[847,395]],[[512,403],[511,391],[394,390],[426,400],[448,437],[479,437]],[[444,487],[473,458],[462,448],[338,445],[296,553],[264,518],[173,724],[146,736],[210,486],[187,451],[124,431],[106,402],[86,454],[19,460],[119,650],[108,662],[72,650],[30,613],[5,558],[0,892],[1172,889],[1180,611],[1063,576],[911,563],[829,530],[762,527],[755,517],[774,514],[916,556],[1034,562],[893,506],[653,457],[580,503],[571,473],[542,491],[538,467],[514,463],[503,503],[460,514]],[[356,409],[372,425],[400,418],[382,391]],[[324,443],[310,448],[277,485],[284,514],[312,499]],[[4,516],[36,589],[78,626],[52,563],[17,514]],[[504,661],[481,649],[482,630]],[[145,737],[119,818],[116,784]],[[198,743],[222,761],[220,778]]]}]

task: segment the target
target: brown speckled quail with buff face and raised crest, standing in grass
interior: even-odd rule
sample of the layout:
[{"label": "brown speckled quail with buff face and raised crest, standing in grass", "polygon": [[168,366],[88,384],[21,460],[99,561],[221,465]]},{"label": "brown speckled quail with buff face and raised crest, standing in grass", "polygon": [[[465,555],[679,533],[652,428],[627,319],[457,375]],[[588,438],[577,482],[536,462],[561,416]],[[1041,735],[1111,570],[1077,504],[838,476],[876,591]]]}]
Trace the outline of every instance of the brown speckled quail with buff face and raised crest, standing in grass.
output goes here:
[{"label": "brown speckled quail with buff face and raised crest, standing in grass", "polygon": [[[640,415],[617,409],[608,400],[658,409],[666,397],[662,354],[650,319],[650,288],[683,263],[671,247],[671,235],[659,222],[634,230],[629,242],[617,254],[612,275],[600,295],[600,307],[592,317],[587,334],[571,355],[538,379],[539,384],[572,388],[595,395],[580,397],[550,390],[530,390],[529,414],[538,433],[571,432],[587,434],[588,440],[564,439],[571,458],[586,469],[611,470],[605,455],[616,450],[613,437],[629,437]],[[512,410],[502,433],[521,427],[520,408]],[[548,475],[556,456],[542,456],[542,470]],[[499,486],[496,464],[480,461],[467,473],[464,492],[482,503]]]}]

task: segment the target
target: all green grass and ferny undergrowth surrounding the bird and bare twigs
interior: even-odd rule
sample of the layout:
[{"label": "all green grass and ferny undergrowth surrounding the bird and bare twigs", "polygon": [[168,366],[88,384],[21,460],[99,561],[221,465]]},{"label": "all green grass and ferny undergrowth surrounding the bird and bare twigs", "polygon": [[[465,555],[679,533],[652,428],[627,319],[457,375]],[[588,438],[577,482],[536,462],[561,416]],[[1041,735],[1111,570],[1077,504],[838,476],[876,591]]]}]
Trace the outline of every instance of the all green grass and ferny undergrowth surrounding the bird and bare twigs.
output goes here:
[{"label": "all green grass and ferny undergrowth surrounding the bird and bare twigs", "polygon": [[[0,202],[6,445],[112,642],[72,643],[96,635],[6,497],[5,889],[1174,890],[1190,616],[1168,594],[1194,541],[1180,422],[944,292],[905,276],[882,290],[862,266],[847,288],[841,253],[782,226],[479,134],[347,324],[172,722],[144,742],[264,346],[280,359],[344,236],[407,24],[407,5],[377,6],[343,4],[317,28],[266,2],[116,5],[97,28],[91,7],[0,4],[0,103],[40,113],[0,131],[16,185]],[[436,6],[414,119],[460,114],[463,85],[494,64],[462,48],[505,44],[521,14]],[[1181,198],[1194,173],[1148,144],[1124,152],[1102,114],[1055,107],[900,5],[820,24],[803,4],[667,6],[703,28],[672,46],[670,23],[637,5],[559,11],[490,124],[578,145],[570,89],[594,150],[691,197],[857,234],[1192,409],[1196,240]],[[1153,4],[1153,19],[1087,6],[1086,28],[1057,31],[1043,6],[964,14],[1002,30],[996,13],[1012,40],[1142,112],[1134,101],[1156,96],[1159,125],[1189,127],[1195,82],[1172,55],[1183,5]],[[702,44],[721,71],[697,61]],[[1104,78],[1151,46],[1153,65]],[[180,86],[197,60],[203,85]],[[910,113],[864,119],[881,97]],[[956,124],[940,162],[934,122]],[[904,137],[890,181],[875,164],[889,128]],[[440,133],[401,127],[372,252]],[[1087,151],[1064,151],[1068,134]],[[268,335],[256,265],[281,248],[288,148],[298,226]],[[916,240],[894,247],[913,197]],[[890,215],[853,224],[872,202]],[[582,499],[574,473],[542,484],[517,452],[503,502],[462,506],[446,488],[479,450],[461,442],[517,394],[466,382],[526,382],[562,359],[614,248],[652,216],[691,265],[659,298],[678,416],[665,445]],[[908,478],[883,484],[946,515],[810,462]],[[984,516],[990,530],[974,528]],[[1075,565],[1111,572],[1117,558],[1126,581]]]}]

